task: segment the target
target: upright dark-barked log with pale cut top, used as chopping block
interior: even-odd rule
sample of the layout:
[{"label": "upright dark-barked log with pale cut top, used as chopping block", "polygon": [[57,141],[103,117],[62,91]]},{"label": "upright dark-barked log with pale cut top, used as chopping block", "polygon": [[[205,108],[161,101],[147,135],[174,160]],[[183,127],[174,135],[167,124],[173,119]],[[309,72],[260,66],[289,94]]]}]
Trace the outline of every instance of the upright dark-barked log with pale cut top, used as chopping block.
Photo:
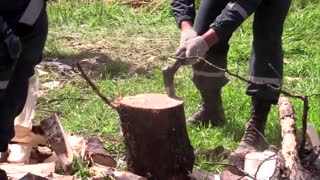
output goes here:
[{"label": "upright dark-barked log with pale cut top, used as chopping block", "polygon": [[164,94],[125,97],[117,108],[128,170],[149,179],[187,179],[194,165],[183,101]]}]

